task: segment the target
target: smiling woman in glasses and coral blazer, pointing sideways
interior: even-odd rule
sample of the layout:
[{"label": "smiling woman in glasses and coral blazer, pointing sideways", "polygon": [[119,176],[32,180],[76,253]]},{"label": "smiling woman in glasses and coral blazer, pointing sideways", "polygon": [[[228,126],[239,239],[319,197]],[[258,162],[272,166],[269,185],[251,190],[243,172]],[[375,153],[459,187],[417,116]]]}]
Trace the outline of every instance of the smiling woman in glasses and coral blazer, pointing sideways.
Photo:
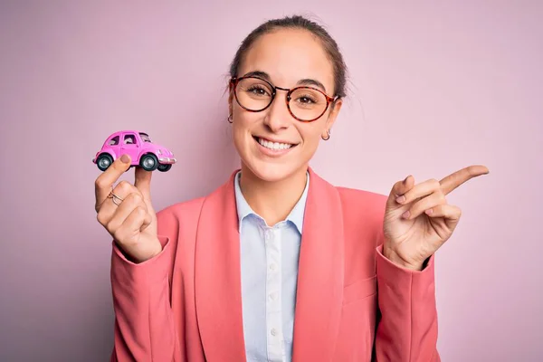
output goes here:
[{"label": "smiling woman in glasses and coral blazer, pointing sideways", "polygon": [[236,53],[229,122],[242,159],[211,195],[155,213],[151,173],[96,180],[113,236],[118,361],[438,361],[433,254],[473,176],[398,181],[390,195],[332,186],[310,167],[345,96],[337,43],[299,16]]}]

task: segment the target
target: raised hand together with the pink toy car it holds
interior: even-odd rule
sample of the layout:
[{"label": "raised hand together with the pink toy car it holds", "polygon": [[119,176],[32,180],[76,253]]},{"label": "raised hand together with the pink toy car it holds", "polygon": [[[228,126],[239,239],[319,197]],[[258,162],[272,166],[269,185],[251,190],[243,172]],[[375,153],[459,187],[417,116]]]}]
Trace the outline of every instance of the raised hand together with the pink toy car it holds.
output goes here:
[{"label": "raised hand together with the pink toy car it holds", "polygon": [[[122,156],[121,156],[122,155]],[[135,130],[115,132],[92,159],[103,173],[95,182],[97,218],[133,262],[145,262],[162,251],[157,235],[157,214],[151,204],[151,175],[167,172],[176,158],[167,148]],[[136,168],[134,185],[114,184]]]}]

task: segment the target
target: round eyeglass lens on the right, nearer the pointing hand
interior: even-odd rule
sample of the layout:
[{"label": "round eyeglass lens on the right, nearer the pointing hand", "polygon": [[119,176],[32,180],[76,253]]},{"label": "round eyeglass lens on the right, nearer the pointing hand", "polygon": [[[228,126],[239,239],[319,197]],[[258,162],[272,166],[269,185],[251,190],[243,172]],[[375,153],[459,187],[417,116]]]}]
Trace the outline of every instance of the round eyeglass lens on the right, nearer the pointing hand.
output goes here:
[{"label": "round eyeglass lens on the right, nearer the pointing hand", "polygon": [[326,110],[328,101],[326,96],[319,90],[311,88],[299,88],[291,94],[292,114],[302,120],[313,120],[319,118]]}]

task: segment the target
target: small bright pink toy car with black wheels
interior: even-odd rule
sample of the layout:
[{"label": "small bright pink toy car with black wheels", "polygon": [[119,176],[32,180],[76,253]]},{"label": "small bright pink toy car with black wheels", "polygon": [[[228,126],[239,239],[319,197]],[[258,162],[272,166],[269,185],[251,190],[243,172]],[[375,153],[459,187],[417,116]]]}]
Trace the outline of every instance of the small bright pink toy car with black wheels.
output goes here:
[{"label": "small bright pink toy car with black wheels", "polygon": [[105,171],[115,159],[128,154],[132,160],[130,167],[139,166],[146,171],[166,172],[176,163],[174,154],[167,148],[151,141],[147,133],[137,130],[120,130],[104,142],[92,162]]}]

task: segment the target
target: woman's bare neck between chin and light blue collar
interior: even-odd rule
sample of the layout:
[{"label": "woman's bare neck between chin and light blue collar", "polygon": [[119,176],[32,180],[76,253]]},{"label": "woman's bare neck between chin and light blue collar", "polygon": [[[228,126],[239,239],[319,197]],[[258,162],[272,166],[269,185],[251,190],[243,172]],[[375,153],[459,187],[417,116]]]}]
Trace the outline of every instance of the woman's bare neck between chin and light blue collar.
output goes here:
[{"label": "woman's bare neck between chin and light blue collar", "polygon": [[254,176],[242,163],[240,187],[243,197],[252,210],[270,226],[291,214],[303,194],[306,182],[307,168],[304,167],[281,181],[268,182]]}]

